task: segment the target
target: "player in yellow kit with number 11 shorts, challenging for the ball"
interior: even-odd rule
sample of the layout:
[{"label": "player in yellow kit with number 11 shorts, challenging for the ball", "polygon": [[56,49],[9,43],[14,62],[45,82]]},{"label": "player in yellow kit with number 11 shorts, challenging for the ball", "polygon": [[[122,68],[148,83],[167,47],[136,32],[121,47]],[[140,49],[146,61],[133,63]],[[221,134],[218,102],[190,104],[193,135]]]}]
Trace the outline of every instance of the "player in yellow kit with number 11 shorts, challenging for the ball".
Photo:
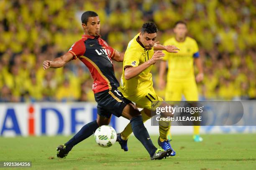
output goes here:
[{"label": "player in yellow kit with number 11 shorts, challenging for the ball", "polygon": [[[154,23],[144,23],[141,32],[137,34],[129,43],[125,51],[123,60],[123,75],[118,90],[124,97],[136,103],[137,107],[143,108],[141,115],[143,122],[151,117],[151,102],[163,101],[156,95],[153,88],[152,74],[150,73],[153,65],[164,57],[166,52],[177,52],[179,50],[173,45],[155,44],[157,28]],[[154,50],[158,50],[154,53]],[[165,102],[159,102],[157,107],[165,107]],[[154,108],[153,108],[154,110]],[[159,121],[159,143],[164,150],[172,149],[167,138],[169,134],[170,122]],[[117,141],[121,148],[128,150],[127,140],[132,133],[131,125],[128,124],[122,133],[118,133]],[[175,155],[172,150],[171,156]]]}]

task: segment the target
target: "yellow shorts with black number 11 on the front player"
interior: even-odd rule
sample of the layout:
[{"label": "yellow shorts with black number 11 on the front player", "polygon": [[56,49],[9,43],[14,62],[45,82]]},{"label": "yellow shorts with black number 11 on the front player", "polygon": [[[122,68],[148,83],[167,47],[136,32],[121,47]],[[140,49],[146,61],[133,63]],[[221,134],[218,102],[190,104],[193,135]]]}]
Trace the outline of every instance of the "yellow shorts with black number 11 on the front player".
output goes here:
[{"label": "yellow shorts with black number 11 on the front player", "polygon": [[[120,90],[120,88],[118,89]],[[161,97],[156,95],[152,81],[145,81],[141,83],[138,87],[138,91],[139,92],[136,95],[130,96],[129,94],[124,93],[122,90],[120,90],[125,98],[131,100],[132,102],[135,102],[136,107],[139,108],[146,108],[148,110],[151,110],[151,102],[163,101]],[[158,107],[161,102],[156,102],[155,104],[157,104],[155,107]]]}]

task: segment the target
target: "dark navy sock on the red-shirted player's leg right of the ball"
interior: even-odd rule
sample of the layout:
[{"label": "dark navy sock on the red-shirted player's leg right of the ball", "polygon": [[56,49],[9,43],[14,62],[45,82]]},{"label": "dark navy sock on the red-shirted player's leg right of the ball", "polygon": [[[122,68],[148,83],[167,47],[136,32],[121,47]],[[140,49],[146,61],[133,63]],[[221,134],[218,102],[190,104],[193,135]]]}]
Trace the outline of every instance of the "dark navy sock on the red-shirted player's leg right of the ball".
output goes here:
[{"label": "dark navy sock on the red-shirted player's leg right of the ball", "polygon": [[143,124],[142,117],[133,117],[130,122],[133,134],[139,141],[141,141],[142,145],[146,148],[149,155],[152,157],[156,152],[156,147],[154,146],[150,136],[148,135],[148,131]]}]

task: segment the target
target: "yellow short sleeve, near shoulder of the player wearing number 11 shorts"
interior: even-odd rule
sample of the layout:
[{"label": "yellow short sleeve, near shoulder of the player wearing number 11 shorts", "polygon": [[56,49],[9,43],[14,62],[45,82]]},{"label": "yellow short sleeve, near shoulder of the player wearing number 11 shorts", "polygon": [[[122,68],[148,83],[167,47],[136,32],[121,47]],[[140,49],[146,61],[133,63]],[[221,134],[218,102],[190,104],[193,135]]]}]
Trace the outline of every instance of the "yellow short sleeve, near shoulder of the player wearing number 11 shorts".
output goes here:
[{"label": "yellow short sleeve, near shoulder of the player wearing number 11 shorts", "polygon": [[140,53],[136,50],[130,50],[125,52],[123,66],[124,69],[127,66],[137,67],[139,64]]}]

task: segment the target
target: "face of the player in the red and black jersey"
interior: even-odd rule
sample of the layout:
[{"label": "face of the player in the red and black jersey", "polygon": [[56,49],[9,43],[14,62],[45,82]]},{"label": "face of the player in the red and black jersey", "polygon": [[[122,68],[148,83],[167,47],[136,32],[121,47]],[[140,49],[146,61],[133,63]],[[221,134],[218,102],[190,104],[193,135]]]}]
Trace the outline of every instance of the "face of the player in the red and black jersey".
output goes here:
[{"label": "face of the player in the red and black jersey", "polygon": [[98,37],[100,36],[100,19],[97,17],[89,17],[87,25],[82,24],[84,30],[86,30],[87,34]]}]

